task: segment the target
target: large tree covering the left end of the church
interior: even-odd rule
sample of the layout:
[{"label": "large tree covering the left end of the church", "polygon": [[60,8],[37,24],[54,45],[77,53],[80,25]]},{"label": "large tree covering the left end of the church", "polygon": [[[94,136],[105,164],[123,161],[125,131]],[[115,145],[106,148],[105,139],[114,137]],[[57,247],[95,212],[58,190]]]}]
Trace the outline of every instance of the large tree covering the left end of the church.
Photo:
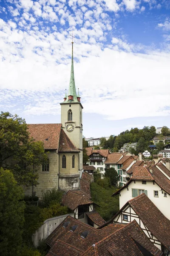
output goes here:
[{"label": "large tree covering the left end of the church", "polygon": [[20,185],[37,185],[37,170],[47,160],[43,143],[29,137],[25,119],[0,114],[0,167],[10,169]]}]

